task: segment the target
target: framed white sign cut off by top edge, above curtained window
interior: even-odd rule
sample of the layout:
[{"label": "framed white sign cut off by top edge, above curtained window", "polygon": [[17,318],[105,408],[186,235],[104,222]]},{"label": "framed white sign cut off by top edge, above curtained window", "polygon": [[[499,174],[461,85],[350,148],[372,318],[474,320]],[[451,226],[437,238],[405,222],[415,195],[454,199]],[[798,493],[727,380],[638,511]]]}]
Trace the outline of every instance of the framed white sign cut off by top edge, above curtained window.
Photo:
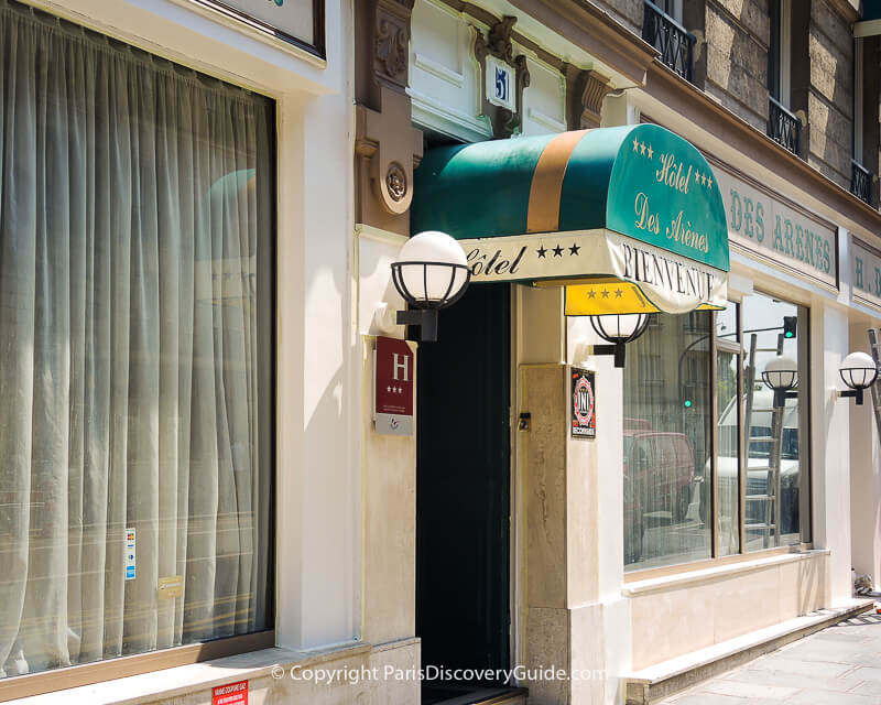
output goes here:
[{"label": "framed white sign cut off by top edge, above curtained window", "polygon": [[193,0],[324,58],[324,0]]}]

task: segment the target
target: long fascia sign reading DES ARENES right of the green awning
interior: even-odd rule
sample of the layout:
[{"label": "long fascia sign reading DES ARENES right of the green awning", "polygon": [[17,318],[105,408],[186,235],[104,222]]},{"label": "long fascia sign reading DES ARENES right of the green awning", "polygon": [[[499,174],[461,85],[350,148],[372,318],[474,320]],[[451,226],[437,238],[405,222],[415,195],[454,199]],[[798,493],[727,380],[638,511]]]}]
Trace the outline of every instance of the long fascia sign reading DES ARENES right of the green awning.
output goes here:
[{"label": "long fascia sign reading DES ARENES right of the green awning", "polygon": [[836,230],[713,165],[728,217],[728,239],[751,257],[783,264],[802,276],[838,288]]}]

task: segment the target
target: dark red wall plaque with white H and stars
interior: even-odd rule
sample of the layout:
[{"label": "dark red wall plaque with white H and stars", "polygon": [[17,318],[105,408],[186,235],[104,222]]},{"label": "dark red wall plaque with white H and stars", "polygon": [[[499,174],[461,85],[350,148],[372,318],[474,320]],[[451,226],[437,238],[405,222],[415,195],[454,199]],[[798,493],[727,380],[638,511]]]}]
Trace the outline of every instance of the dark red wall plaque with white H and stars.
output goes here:
[{"label": "dark red wall plaque with white H and stars", "polygon": [[377,337],[373,357],[373,420],[377,433],[413,433],[415,358],[406,340]]}]

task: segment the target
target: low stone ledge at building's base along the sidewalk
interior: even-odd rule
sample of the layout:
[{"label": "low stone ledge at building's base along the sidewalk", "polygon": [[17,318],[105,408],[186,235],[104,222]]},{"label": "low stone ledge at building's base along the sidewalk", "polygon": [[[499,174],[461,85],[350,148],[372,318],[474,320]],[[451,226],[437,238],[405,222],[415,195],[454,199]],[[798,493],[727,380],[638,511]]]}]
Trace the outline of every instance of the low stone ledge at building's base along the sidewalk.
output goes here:
[{"label": "low stone ledge at building's base along the sidewalk", "polygon": [[627,705],[650,705],[670,697],[815,631],[868,611],[872,605],[871,599],[852,599],[841,607],[820,609],[641,671],[626,673],[621,677],[627,683]]}]

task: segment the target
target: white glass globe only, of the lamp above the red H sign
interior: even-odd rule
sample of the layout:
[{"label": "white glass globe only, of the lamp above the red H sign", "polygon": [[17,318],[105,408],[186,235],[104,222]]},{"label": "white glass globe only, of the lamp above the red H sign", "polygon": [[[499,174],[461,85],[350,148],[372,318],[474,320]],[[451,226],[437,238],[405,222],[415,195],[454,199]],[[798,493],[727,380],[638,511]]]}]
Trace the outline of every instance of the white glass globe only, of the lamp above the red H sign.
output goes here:
[{"label": "white glass globe only, of the lamp above the red H sign", "polygon": [[[468,259],[446,232],[426,230],[410,238],[398,256],[401,295],[416,306],[455,299],[468,282]],[[450,267],[455,264],[458,267]],[[409,294],[409,295],[407,295]],[[410,301],[412,296],[413,301]]]}]

